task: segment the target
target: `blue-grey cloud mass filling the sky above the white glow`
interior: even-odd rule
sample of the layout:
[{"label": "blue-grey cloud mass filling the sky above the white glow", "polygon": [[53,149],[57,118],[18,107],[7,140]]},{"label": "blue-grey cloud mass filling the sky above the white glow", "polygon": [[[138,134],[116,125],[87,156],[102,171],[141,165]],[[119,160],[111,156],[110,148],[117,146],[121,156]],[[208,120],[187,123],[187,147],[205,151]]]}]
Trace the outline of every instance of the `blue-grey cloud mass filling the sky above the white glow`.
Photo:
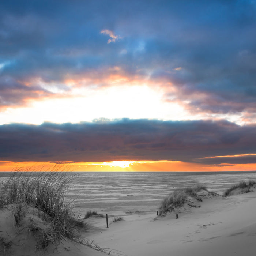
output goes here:
[{"label": "blue-grey cloud mass filling the sky above the white glow", "polygon": [[[255,17],[255,3],[242,0],[4,1],[0,64],[9,64],[0,76],[60,84],[67,74],[120,66],[129,75],[172,82],[174,97],[191,111],[255,113]],[[123,39],[107,44],[100,33],[106,29]],[[7,105],[37,97],[26,87],[19,94],[1,87]]]}]

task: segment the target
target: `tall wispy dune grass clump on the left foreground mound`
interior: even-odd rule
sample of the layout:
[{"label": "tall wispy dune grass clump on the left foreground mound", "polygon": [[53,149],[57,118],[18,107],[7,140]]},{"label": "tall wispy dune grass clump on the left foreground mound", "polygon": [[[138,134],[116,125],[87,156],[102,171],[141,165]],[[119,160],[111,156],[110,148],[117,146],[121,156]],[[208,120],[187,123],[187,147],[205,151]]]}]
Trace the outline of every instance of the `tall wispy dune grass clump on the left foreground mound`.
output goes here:
[{"label": "tall wispy dune grass clump on the left foreground mound", "polygon": [[[72,212],[72,202],[66,200],[74,174],[67,172],[15,171],[0,187],[0,208],[7,204],[26,203],[37,209],[38,216],[47,218],[52,230],[42,238],[42,247],[61,238],[80,242],[76,226],[83,223]],[[44,234],[42,234],[44,236]]]}]

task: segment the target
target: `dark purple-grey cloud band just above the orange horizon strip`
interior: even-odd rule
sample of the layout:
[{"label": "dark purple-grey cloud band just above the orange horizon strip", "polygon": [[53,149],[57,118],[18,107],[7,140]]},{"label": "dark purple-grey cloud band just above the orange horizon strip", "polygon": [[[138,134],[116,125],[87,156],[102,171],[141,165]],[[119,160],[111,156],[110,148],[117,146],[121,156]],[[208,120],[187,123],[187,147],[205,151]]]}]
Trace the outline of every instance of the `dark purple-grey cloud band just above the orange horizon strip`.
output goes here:
[{"label": "dark purple-grey cloud band just above the orange horizon strip", "polygon": [[249,159],[256,163],[255,157],[202,159],[255,153],[255,128],[227,121],[129,119],[79,124],[6,124],[0,126],[0,160],[177,160],[216,164]]}]

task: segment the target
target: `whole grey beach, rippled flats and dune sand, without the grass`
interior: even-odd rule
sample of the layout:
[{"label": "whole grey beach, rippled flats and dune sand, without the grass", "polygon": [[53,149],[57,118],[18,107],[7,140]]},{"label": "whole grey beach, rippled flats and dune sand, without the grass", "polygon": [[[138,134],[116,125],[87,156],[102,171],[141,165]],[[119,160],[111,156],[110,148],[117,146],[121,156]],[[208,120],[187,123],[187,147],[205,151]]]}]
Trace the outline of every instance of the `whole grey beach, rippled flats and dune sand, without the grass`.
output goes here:
[{"label": "whole grey beach, rippled flats and dune sand, without the grass", "polygon": [[[82,219],[86,212],[97,211],[97,215],[84,219],[86,227],[79,229],[84,242],[64,239],[57,245],[49,243],[44,250],[39,248],[40,234],[37,237],[37,233],[32,232],[31,235],[31,223],[34,223],[33,227],[36,228],[33,230],[36,232],[47,230],[45,218],[39,216],[38,211],[34,214],[33,207],[23,204],[19,206],[18,212],[22,214],[18,214],[17,221],[18,208],[12,204],[0,211],[1,252],[14,256],[68,256],[71,253],[77,256],[253,254],[256,249],[256,189],[251,188],[248,193],[242,194],[238,191],[227,197],[222,194],[241,180],[253,180],[255,175],[255,172],[183,173],[176,176],[164,173],[78,175],[72,181],[76,185],[68,191],[68,198],[73,198],[73,211]],[[87,184],[84,184],[84,180],[87,180]],[[194,203],[186,204],[183,208],[159,215],[159,207],[165,196],[193,186],[196,181],[207,184],[207,191],[199,192],[202,202],[201,199],[194,200]],[[81,193],[81,188],[84,193]],[[215,194],[215,191],[218,193]],[[105,214],[108,214],[109,227],[106,226]]]}]

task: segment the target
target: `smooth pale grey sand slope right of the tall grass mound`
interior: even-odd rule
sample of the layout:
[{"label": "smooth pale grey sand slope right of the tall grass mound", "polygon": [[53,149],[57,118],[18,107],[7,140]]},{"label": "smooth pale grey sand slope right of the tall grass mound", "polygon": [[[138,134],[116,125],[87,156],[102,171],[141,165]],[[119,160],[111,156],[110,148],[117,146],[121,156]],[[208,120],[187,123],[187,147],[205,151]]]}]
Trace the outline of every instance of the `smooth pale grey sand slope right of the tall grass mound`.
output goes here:
[{"label": "smooth pale grey sand slope right of the tall grass mound", "polygon": [[[201,208],[178,214],[178,219],[170,214],[154,221],[155,212],[124,216],[87,237],[129,256],[255,255],[255,212],[256,192],[250,192],[206,199]],[[105,224],[98,221],[98,226]]]}]

